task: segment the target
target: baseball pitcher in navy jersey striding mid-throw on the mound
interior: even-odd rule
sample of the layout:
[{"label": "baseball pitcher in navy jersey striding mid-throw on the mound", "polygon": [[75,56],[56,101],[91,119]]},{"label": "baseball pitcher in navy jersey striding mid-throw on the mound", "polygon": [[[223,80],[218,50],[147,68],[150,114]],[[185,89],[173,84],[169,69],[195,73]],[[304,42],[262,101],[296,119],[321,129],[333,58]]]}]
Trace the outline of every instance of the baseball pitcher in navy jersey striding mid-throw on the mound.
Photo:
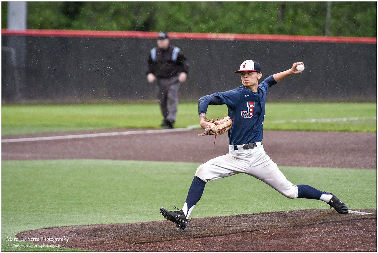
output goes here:
[{"label": "baseball pitcher in navy jersey striding mid-throw on the mound", "polygon": [[290,69],[271,75],[259,84],[262,77],[260,64],[246,60],[240,64],[239,70],[235,71],[240,73],[242,86],[200,98],[198,114],[204,135],[217,131],[213,130],[213,125],[209,126],[209,120],[206,119],[208,106],[227,105],[228,117],[232,119],[232,126],[228,127],[229,152],[198,167],[183,208],[179,210],[174,207],[177,211],[161,208],[160,212],[164,218],[175,223],[178,228],[185,229],[194,206],[202,196],[205,184],[238,173],[245,173],[263,181],[287,198],[322,200],[340,214],[348,213],[347,206],[334,194],[288,181],[263,148],[263,123],[268,89],[290,75],[302,73],[296,69],[298,65],[304,66],[304,63],[296,62]]}]

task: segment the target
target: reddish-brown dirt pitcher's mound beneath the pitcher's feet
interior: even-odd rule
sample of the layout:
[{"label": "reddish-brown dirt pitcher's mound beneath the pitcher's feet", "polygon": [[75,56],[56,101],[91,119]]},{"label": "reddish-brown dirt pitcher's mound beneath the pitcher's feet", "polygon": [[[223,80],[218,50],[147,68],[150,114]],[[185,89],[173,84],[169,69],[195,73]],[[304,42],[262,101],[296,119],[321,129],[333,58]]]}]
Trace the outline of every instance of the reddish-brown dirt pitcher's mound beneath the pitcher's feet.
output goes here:
[{"label": "reddish-brown dirt pitcher's mound beneath the pitcher's feet", "polygon": [[16,238],[94,251],[376,251],[376,228],[374,209],[308,209],[195,218],[185,230],[163,220],[45,228]]}]

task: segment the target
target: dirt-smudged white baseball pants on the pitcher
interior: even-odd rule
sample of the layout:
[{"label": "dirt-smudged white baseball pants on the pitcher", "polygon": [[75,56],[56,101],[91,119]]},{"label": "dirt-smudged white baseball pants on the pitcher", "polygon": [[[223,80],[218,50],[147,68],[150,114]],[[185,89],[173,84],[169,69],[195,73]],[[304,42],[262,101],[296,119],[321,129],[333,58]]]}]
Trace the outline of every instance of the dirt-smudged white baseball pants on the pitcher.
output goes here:
[{"label": "dirt-smudged white baseball pants on the pitcher", "polygon": [[229,153],[198,166],[195,176],[206,183],[238,173],[254,176],[287,198],[298,197],[298,187],[286,179],[277,164],[266,155],[261,142],[257,147],[243,149],[243,145],[229,145]]}]

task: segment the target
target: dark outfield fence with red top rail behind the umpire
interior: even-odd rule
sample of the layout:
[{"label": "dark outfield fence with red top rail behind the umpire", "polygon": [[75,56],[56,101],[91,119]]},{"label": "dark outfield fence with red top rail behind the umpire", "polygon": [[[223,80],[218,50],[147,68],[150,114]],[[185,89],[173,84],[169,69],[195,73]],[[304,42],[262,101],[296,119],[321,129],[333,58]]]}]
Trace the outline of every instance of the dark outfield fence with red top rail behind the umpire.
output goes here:
[{"label": "dark outfield fence with red top rail behind the umpire", "polygon": [[[169,33],[189,62],[180,99],[240,86],[254,59],[262,78],[305,63],[300,75],[272,87],[268,100],[376,102],[376,38]],[[2,30],[2,101],[150,100],[146,80],[155,32]]]}]

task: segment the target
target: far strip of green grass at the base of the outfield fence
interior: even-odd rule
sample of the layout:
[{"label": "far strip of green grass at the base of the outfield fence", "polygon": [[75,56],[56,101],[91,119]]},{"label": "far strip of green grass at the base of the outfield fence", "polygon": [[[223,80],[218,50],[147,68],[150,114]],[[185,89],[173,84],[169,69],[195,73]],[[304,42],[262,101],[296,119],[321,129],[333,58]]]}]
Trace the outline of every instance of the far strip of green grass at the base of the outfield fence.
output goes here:
[{"label": "far strip of green grass at the base of the outfield fence", "polygon": [[[199,126],[197,103],[180,103],[175,127]],[[223,117],[227,107],[209,106],[208,117]],[[159,128],[155,104],[6,105],[2,136],[114,128]],[[265,130],[376,132],[376,103],[267,103]]]}]

